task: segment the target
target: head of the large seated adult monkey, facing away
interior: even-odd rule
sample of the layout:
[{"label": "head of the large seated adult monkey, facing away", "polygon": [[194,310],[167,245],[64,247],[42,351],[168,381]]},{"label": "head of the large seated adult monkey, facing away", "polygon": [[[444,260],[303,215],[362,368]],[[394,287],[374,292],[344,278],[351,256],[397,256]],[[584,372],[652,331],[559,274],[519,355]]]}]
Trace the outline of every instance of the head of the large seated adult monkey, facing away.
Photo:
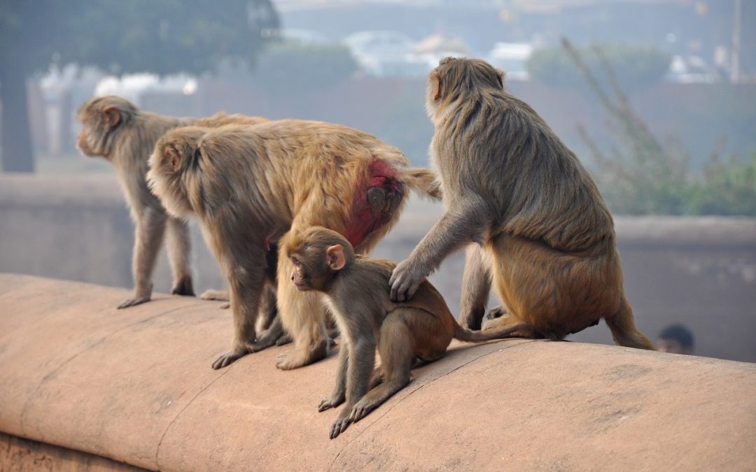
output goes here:
[{"label": "head of the large seated adult monkey, facing away", "polygon": [[503,90],[504,71],[481,59],[445,57],[428,76],[426,108],[431,118],[454,100],[485,88]]}]

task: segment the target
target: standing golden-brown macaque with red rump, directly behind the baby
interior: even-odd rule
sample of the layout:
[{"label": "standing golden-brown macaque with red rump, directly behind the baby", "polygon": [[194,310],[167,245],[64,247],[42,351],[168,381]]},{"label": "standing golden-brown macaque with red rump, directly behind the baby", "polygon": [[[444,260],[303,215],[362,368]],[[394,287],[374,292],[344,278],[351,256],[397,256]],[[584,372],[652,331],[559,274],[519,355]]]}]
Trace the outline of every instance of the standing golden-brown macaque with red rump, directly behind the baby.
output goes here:
[{"label": "standing golden-brown macaque with red rump, directly behind the baby", "polygon": [[[410,188],[440,198],[435,175],[410,168],[395,147],[346,126],[294,119],[169,131],[156,144],[148,179],[172,215],[197,216],[231,285],[234,342],[214,369],[274,341],[272,327],[257,340],[255,330],[265,250],[272,243],[283,248],[291,232],[317,224],[366,253],[398,220]],[[277,273],[291,273],[288,258],[279,255]],[[277,301],[295,342],[277,367],[324,358],[320,298],[279,283]]]}]

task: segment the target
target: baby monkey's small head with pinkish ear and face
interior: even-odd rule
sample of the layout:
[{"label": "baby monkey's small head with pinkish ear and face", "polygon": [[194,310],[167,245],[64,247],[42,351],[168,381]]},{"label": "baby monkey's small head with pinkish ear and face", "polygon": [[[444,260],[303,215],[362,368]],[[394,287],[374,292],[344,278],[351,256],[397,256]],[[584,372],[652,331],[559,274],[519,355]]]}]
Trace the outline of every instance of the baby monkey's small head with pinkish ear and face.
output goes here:
[{"label": "baby monkey's small head with pinkish ear and face", "polygon": [[294,234],[285,250],[294,266],[290,279],[302,291],[328,292],[334,274],[355,258],[355,249],[344,236],[317,226]]}]

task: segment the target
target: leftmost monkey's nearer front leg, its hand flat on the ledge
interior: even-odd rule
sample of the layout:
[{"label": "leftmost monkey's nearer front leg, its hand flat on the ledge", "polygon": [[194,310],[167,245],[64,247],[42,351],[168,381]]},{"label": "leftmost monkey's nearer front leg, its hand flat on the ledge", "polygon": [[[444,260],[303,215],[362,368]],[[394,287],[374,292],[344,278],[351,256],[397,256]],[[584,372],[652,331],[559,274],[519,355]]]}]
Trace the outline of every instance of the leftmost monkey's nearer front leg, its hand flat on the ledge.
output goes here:
[{"label": "leftmost monkey's nearer front leg, its hand flat on the ledge", "polygon": [[155,270],[157,253],[166,232],[166,213],[163,208],[144,208],[132,211],[136,222],[132,273],[134,276],[134,296],[118,305],[118,308],[133,307],[150,301],[152,295],[152,273]]}]

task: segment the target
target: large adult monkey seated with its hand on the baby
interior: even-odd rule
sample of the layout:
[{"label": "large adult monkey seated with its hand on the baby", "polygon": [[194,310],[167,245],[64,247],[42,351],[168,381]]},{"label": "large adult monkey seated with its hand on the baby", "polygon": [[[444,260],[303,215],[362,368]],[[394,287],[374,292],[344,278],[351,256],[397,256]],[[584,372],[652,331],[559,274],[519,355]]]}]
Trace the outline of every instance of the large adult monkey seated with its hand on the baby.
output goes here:
[{"label": "large adult monkey seated with its hand on the baby", "polygon": [[410,298],[468,245],[462,325],[479,329],[494,282],[505,307],[489,313],[485,330],[526,322],[518,335],[561,339],[603,318],[617,344],[654,349],[625,300],[612,215],[596,184],[546,122],[503,90],[503,72],[445,58],[429,75],[426,106],[445,211],[395,268],[392,299]]}]

